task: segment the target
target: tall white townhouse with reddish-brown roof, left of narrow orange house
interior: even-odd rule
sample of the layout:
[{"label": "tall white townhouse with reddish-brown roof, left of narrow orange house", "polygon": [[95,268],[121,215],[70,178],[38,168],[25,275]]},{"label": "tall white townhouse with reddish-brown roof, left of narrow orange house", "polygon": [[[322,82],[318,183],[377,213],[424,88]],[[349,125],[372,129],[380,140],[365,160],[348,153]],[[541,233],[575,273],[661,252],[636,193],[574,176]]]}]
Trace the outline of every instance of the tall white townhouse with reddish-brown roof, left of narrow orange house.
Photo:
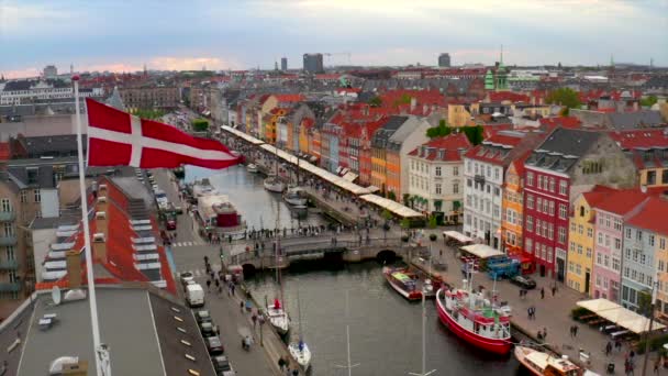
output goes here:
[{"label": "tall white townhouse with reddish-brown roof, left of narrow orange house", "polygon": [[501,250],[501,208],[505,172],[534,148],[542,134],[500,131],[464,156],[464,233]]}]

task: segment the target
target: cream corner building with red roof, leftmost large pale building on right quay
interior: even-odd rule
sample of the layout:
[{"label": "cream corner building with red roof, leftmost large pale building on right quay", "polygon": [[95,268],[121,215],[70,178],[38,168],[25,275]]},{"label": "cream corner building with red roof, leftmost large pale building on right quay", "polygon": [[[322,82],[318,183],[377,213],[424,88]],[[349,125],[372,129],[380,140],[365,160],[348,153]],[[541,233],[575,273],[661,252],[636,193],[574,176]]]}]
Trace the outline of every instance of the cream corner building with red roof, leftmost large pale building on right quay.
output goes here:
[{"label": "cream corner building with red roof, leftmost large pale building on right quay", "polygon": [[[409,188],[403,197],[416,210],[435,215],[439,224],[460,223],[464,154],[471,147],[464,133],[437,137],[408,155]],[[402,198],[403,198],[402,197]]]}]

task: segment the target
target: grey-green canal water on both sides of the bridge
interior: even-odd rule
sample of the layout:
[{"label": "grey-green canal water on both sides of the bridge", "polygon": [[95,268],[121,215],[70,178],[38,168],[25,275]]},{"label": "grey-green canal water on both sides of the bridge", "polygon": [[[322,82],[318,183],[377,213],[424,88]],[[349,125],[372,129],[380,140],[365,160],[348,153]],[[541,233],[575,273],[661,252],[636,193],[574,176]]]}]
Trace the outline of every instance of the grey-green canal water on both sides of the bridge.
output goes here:
[{"label": "grey-green canal water on both sides of the bridge", "polygon": [[[204,169],[187,169],[187,179],[207,177]],[[231,200],[248,221],[258,228],[272,222],[281,210],[280,222],[290,218],[279,196],[265,191],[263,179],[243,167],[215,172],[211,183]],[[285,218],[283,218],[285,217]],[[321,223],[310,215],[308,221]],[[359,364],[352,375],[408,375],[420,373],[422,365],[422,309],[394,292],[385,281],[382,265],[323,265],[318,262],[292,264],[283,270],[283,296],[292,318],[291,335],[299,334],[297,295],[301,302],[302,334],[312,353],[314,376],[348,375],[346,325],[350,333],[350,363]],[[271,301],[280,294],[272,273],[258,274],[248,286],[257,300]],[[347,297],[347,298],[346,298]],[[346,305],[347,301],[347,305]],[[346,309],[347,306],[347,309]],[[494,357],[477,351],[452,335],[438,321],[433,301],[426,302],[426,364],[432,375],[526,375],[511,357]]]}]

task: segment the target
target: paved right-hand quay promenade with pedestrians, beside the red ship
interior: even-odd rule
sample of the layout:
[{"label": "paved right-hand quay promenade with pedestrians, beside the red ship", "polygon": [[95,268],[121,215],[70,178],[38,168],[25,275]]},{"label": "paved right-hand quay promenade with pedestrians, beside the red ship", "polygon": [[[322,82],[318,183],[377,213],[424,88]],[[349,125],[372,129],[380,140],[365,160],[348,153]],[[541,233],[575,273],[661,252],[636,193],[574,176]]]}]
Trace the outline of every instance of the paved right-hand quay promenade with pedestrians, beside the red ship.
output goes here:
[{"label": "paved right-hand quay promenade with pedestrians, beside the red ship", "polygon": [[[426,233],[427,231],[425,231]],[[428,236],[428,235],[427,235]],[[432,257],[438,259],[439,251],[443,250],[443,261],[448,265],[446,280],[454,286],[461,285],[461,262],[455,257],[456,250],[446,246],[443,239],[439,237],[432,243]],[[628,353],[630,347],[623,344],[622,351],[612,351],[610,356],[605,356],[605,345],[610,341],[609,336],[601,333],[598,328],[590,328],[581,324],[570,318],[571,309],[576,308],[578,300],[588,299],[580,292],[566,287],[561,283],[557,283],[556,295],[552,295],[553,279],[541,277],[538,275],[531,276],[537,284],[537,287],[527,292],[525,298],[520,298],[520,288],[511,285],[508,280],[497,281],[496,289],[501,301],[508,301],[512,307],[512,323],[520,327],[532,338],[536,338],[539,330],[547,330],[546,343],[554,350],[569,358],[580,361],[580,349],[590,354],[591,365],[590,371],[601,375],[606,373],[609,363],[615,364],[615,373],[623,374],[624,358]],[[487,290],[493,288],[493,280],[487,274],[478,273],[474,275],[474,286],[482,285]],[[541,299],[541,288],[545,289],[545,298]],[[527,314],[528,307],[535,307],[535,319],[530,320]],[[578,327],[576,338],[571,338],[569,328]],[[656,354],[650,354],[647,368],[652,369],[656,361]],[[643,365],[643,355],[635,356],[635,371],[639,374]]]}]

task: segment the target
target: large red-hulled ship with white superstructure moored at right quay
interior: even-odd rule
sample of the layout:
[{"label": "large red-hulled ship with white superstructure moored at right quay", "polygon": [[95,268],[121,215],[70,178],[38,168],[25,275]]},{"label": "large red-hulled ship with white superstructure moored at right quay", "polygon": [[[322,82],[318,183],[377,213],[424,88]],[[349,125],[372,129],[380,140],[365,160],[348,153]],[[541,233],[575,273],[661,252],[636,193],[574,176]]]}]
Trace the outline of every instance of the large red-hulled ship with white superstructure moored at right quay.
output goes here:
[{"label": "large red-hulled ship with white superstructure moored at right quay", "polygon": [[490,353],[506,355],[512,346],[510,307],[499,306],[472,290],[472,268],[461,288],[441,287],[436,310],[450,332],[471,345]]}]

